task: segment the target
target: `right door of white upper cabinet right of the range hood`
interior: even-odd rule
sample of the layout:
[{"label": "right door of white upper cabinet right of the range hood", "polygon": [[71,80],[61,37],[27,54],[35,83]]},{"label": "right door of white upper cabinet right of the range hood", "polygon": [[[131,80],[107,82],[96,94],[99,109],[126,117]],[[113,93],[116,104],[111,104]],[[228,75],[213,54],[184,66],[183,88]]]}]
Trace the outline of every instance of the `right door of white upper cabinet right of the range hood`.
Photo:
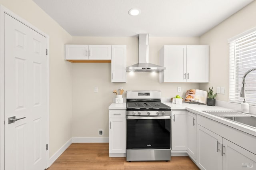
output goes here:
[{"label": "right door of white upper cabinet right of the range hood", "polygon": [[209,46],[187,45],[187,82],[204,83],[209,81]]}]

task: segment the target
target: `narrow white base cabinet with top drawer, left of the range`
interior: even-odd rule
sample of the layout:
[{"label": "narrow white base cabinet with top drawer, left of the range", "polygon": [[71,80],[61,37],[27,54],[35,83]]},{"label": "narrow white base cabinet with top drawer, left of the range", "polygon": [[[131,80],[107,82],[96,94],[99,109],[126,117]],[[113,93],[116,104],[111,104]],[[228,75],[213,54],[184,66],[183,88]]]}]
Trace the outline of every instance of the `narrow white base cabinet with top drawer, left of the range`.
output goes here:
[{"label": "narrow white base cabinet with top drawer, left of the range", "polygon": [[109,110],[109,156],[126,155],[126,111]]}]

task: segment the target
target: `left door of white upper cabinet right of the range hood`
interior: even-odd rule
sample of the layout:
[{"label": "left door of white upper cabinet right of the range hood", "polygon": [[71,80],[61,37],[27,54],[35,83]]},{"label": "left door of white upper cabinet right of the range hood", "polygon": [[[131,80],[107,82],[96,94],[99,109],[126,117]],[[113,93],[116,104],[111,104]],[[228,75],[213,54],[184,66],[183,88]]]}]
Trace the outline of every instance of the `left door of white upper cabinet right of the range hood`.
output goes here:
[{"label": "left door of white upper cabinet right of the range hood", "polygon": [[160,83],[166,82],[186,82],[184,73],[186,73],[186,45],[164,45],[160,49],[159,64],[166,67],[160,72]]}]

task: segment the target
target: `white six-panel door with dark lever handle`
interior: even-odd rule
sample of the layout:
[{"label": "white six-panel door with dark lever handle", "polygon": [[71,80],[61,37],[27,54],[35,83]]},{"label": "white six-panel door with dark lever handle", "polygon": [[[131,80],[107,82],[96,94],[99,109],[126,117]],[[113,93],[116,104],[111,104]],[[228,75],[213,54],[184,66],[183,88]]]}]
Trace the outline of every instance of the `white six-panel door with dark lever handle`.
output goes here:
[{"label": "white six-panel door with dark lever handle", "polygon": [[[5,170],[46,168],[46,38],[5,14]],[[8,123],[8,118],[20,119]]]}]

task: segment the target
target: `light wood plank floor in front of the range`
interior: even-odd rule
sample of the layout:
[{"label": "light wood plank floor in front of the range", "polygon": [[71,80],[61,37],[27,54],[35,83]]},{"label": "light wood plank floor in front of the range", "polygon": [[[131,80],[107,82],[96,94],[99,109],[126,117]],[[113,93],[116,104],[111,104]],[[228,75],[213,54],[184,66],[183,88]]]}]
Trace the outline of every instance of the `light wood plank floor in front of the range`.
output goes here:
[{"label": "light wood plank floor in front of the range", "polygon": [[188,156],[166,161],[110,158],[108,143],[72,143],[47,170],[199,170]]}]

